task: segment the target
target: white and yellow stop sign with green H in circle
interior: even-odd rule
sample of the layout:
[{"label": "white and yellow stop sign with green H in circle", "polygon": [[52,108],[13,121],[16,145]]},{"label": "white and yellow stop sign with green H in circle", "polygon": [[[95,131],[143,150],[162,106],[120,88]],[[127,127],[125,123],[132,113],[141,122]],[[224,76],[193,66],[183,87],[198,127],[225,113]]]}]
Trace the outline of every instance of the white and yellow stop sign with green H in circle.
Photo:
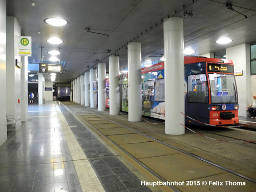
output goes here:
[{"label": "white and yellow stop sign with green H in circle", "polygon": [[31,57],[31,37],[29,36],[19,36],[18,37],[18,56],[28,56]]}]

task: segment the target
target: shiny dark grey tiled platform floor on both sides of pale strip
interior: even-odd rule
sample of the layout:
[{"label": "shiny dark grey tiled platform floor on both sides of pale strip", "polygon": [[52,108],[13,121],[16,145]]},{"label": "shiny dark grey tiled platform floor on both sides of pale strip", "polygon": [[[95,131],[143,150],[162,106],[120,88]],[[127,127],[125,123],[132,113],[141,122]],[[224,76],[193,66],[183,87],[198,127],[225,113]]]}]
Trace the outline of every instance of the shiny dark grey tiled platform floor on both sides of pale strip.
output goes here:
[{"label": "shiny dark grey tiled platform floor on both sides of pale strip", "polygon": [[[59,106],[105,191],[151,191],[64,106]],[[83,191],[54,102],[29,105],[29,119],[8,127],[0,146],[0,191]]]}]

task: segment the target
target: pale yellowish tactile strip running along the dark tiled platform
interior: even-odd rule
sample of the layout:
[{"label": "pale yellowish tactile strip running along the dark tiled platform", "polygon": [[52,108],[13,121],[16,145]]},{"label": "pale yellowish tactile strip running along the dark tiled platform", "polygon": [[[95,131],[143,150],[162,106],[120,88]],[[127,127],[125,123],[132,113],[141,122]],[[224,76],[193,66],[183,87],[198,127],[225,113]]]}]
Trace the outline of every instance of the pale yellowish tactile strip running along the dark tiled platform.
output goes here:
[{"label": "pale yellowish tactile strip running along the dark tiled platform", "polygon": [[84,155],[79,143],[77,142],[75,136],[73,135],[65,117],[61,113],[60,109],[56,105],[58,118],[61,123],[63,133],[65,135],[68,147],[70,150],[73,163],[75,165],[76,173],[83,192],[86,191],[105,191],[101,185],[97,175],[95,174],[90,162],[87,160],[86,155]]}]

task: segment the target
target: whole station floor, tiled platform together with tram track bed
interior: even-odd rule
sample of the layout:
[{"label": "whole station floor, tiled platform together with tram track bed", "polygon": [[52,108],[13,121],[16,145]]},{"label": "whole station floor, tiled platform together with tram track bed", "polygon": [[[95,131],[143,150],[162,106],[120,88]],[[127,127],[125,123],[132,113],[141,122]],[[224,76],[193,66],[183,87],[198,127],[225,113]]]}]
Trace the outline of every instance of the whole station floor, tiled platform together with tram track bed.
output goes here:
[{"label": "whole station floor, tiled platform together with tram track bed", "polygon": [[29,105],[28,121],[8,127],[0,146],[0,191],[256,191],[255,140],[238,127],[175,136],[162,122],[129,122],[125,113]]}]

